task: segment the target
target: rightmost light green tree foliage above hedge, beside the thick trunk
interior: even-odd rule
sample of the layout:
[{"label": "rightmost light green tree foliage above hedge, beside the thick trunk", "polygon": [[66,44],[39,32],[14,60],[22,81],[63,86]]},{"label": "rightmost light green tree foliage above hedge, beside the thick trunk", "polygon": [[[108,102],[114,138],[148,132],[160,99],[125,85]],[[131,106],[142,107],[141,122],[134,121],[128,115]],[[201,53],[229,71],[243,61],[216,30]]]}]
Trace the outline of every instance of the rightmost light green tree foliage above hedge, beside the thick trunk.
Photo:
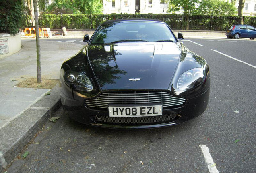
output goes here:
[{"label": "rightmost light green tree foliage above hedge, beside the thick trunk", "polygon": [[225,0],[202,0],[196,14],[202,15],[235,15],[237,9],[234,2],[227,2]]}]

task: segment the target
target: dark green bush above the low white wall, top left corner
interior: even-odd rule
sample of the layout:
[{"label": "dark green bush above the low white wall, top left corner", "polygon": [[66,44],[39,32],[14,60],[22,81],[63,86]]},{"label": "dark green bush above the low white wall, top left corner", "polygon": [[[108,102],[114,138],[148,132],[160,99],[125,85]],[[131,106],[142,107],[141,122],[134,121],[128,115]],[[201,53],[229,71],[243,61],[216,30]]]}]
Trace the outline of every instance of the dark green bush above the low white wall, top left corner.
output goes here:
[{"label": "dark green bush above the low white wall, top left corner", "polygon": [[0,4],[0,33],[17,34],[23,15],[21,0],[4,0]]}]

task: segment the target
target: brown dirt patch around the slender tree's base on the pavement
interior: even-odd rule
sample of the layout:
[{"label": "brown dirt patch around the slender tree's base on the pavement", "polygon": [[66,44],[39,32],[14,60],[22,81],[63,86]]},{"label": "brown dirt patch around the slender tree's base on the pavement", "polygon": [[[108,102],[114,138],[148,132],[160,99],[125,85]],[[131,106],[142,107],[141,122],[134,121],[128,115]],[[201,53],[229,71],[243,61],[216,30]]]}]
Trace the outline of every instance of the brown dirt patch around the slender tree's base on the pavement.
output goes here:
[{"label": "brown dirt patch around the slender tree's base on the pavement", "polygon": [[60,81],[58,79],[42,79],[42,83],[37,83],[36,78],[28,78],[16,86],[21,88],[52,89],[59,83]]}]

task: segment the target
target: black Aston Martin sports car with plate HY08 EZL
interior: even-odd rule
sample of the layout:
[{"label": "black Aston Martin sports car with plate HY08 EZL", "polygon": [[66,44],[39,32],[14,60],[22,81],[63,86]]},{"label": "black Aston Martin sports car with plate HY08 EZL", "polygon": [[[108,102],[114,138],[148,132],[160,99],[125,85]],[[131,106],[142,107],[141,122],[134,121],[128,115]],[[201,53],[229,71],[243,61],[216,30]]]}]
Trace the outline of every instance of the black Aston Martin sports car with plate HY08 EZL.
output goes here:
[{"label": "black Aston Martin sports car with plate HY08 EZL", "polygon": [[69,117],[97,127],[142,129],[176,125],[202,114],[210,91],[206,61],[159,20],[101,24],[60,70]]}]

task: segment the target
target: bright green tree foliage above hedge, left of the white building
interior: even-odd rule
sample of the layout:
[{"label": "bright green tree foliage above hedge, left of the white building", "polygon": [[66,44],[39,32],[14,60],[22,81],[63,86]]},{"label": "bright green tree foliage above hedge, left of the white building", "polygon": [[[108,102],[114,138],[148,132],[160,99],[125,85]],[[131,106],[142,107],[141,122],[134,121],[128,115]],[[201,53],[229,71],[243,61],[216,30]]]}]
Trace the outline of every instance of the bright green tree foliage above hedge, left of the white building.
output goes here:
[{"label": "bright green tree foliage above hedge, left of the white building", "polygon": [[102,8],[102,0],[54,0],[46,11],[52,14],[101,14]]}]

